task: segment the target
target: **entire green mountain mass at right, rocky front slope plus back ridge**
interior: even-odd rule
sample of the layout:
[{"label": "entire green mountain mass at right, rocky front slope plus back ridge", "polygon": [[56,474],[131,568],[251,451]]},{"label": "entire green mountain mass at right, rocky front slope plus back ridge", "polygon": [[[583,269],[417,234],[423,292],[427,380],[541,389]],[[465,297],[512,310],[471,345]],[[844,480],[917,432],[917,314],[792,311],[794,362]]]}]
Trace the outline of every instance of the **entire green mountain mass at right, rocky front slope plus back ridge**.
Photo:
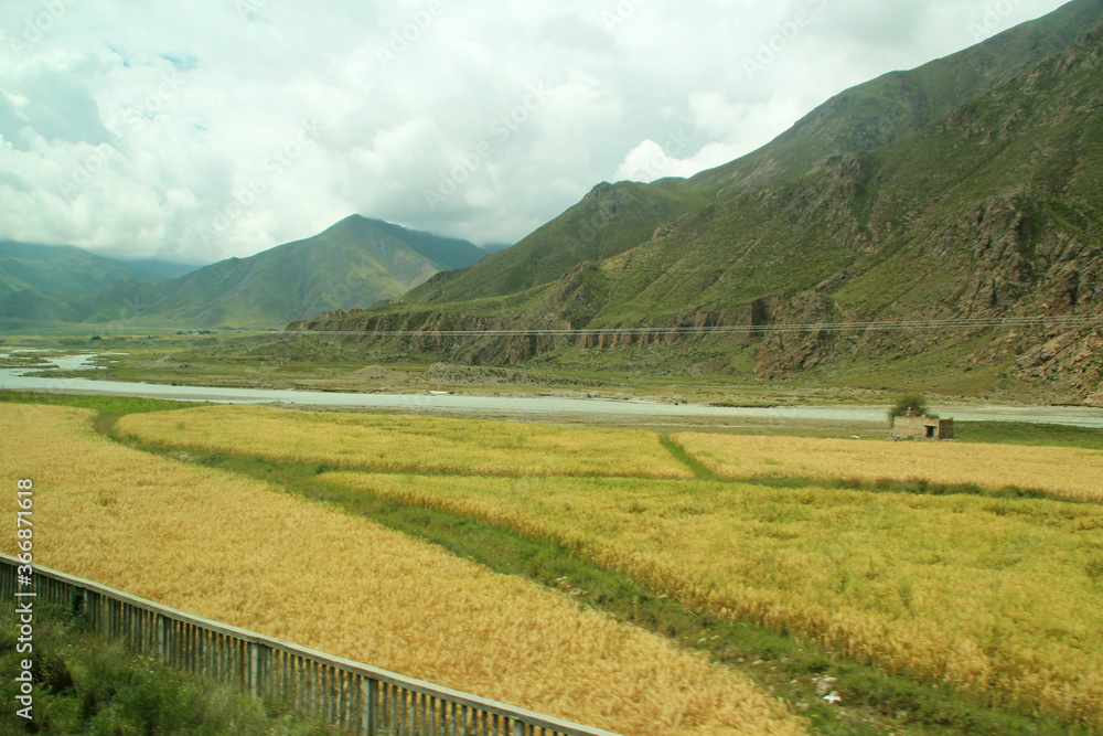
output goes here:
[{"label": "entire green mountain mass at right, rocky front slope plus back ridge", "polygon": [[[1070,3],[973,50],[843,93],[726,167],[658,186],[612,185],[636,198],[586,244],[600,257],[570,266],[531,246],[527,278],[495,282],[480,264],[385,308],[288,329],[362,331],[368,340],[378,330],[420,331],[407,350],[465,362],[539,359],[772,380],[811,372],[867,387],[1103,401],[1100,322],[1062,321],[1103,317],[1101,19],[1100,1]],[[1065,42],[1075,24],[1090,30]],[[1025,63],[1027,51],[1041,58]],[[914,115],[892,125],[863,111],[904,109],[906,97]],[[588,198],[596,202],[583,200],[534,236],[550,246],[555,228],[579,211],[601,212],[611,190],[596,191]],[[689,211],[621,248],[615,237],[644,230],[644,193],[656,191],[682,192]],[[703,192],[708,203],[694,205]],[[602,253],[606,244],[620,252]],[[565,273],[542,284],[538,274],[554,263]],[[472,287],[469,298],[457,298],[457,285]],[[985,322],[1024,317],[1050,321]],[[825,327],[889,320],[972,322]],[[649,326],[731,333],[632,331]],[[503,327],[608,333],[433,332]],[[763,329],[773,331],[750,333]]]}]

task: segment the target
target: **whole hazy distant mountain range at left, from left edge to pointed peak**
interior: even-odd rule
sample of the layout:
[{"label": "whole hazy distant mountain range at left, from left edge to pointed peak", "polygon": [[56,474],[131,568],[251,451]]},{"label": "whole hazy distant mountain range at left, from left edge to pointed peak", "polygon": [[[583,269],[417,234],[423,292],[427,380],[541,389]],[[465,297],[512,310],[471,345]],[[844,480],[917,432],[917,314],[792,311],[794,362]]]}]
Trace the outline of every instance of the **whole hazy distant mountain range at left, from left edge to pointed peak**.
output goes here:
[{"label": "whole hazy distant mountain range at left, from left edge to pointed peak", "polygon": [[0,244],[0,328],[119,320],[133,327],[282,328],[324,311],[371,307],[483,255],[468,241],[360,215],[314,237],[173,279],[78,248]]}]

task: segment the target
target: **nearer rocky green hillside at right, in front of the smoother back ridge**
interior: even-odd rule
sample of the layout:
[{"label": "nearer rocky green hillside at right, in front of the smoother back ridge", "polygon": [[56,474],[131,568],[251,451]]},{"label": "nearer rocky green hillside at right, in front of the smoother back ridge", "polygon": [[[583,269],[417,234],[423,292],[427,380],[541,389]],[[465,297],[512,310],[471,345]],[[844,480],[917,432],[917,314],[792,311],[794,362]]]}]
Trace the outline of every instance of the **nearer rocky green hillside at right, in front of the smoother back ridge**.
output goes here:
[{"label": "nearer rocky green hillside at right, in front of the smoother back ridge", "polygon": [[655,338],[661,344],[646,351],[627,329],[1099,316],[1101,50],[1096,26],[891,143],[729,193],[549,285],[289,329],[601,328],[614,333],[580,341],[425,335],[399,346],[447,349],[457,360],[485,363],[539,356],[763,378],[814,370],[874,386],[933,386],[933,373],[949,378],[944,387],[983,392],[1034,382],[1054,398],[1088,398],[1103,390],[1097,329],[818,329],[764,339]]}]

